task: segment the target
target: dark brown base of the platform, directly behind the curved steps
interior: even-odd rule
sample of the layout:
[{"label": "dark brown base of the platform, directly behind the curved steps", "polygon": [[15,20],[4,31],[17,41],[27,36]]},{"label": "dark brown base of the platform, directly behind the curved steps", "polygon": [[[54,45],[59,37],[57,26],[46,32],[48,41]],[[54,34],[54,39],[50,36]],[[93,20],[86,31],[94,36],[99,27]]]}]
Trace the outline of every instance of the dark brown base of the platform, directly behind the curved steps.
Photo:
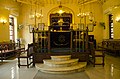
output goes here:
[{"label": "dark brown base of the platform, directly behind the curved steps", "polygon": [[51,56],[71,55],[72,59],[79,59],[79,62],[88,62],[89,53],[87,52],[55,52],[55,53],[34,53],[34,63],[43,63],[45,59],[51,59]]}]

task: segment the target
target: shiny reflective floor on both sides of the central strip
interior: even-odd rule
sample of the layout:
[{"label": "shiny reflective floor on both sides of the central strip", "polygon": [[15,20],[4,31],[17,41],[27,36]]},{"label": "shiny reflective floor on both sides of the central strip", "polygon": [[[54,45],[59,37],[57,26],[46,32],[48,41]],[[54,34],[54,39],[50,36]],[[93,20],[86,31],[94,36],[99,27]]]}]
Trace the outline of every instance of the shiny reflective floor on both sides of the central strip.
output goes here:
[{"label": "shiny reflective floor on both sides of the central strip", "polygon": [[[23,60],[24,61],[24,60]],[[33,79],[38,69],[17,66],[17,59],[5,60],[0,64],[0,79]],[[120,79],[120,57],[105,56],[105,67],[91,64],[85,72],[90,79]]]}]

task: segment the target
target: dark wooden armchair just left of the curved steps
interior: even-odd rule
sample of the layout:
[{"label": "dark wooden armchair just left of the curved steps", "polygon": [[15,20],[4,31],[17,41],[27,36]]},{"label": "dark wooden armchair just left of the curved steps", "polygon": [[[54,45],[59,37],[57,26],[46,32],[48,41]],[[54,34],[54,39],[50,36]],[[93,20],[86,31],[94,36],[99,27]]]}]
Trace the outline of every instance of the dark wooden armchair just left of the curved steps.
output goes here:
[{"label": "dark wooden armchair just left of the curved steps", "polygon": [[[33,44],[28,44],[28,49],[25,50],[25,52],[27,53],[27,55],[22,55],[21,52],[23,52],[23,50],[18,51],[18,67],[20,68],[20,66],[27,66],[27,68],[29,68],[29,66],[31,64],[33,64]],[[26,64],[21,64],[21,59],[26,59],[27,63]]]}]

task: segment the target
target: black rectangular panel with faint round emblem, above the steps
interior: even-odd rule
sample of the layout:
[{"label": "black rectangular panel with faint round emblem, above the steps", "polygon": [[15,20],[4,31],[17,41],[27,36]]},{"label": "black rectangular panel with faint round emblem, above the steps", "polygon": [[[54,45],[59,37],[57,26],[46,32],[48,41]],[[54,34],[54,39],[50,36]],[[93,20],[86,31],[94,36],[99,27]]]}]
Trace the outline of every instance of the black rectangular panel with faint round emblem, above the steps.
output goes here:
[{"label": "black rectangular panel with faint round emblem, above the steps", "polygon": [[71,32],[50,32],[50,47],[51,48],[70,48]]}]

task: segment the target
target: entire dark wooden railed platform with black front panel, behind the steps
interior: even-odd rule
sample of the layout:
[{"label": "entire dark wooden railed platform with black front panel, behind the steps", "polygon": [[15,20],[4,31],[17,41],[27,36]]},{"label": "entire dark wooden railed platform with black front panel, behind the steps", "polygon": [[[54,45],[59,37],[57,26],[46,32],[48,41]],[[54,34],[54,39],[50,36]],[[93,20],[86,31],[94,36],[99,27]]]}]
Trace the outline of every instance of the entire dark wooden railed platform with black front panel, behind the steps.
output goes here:
[{"label": "entire dark wooden railed platform with black front panel, behind the steps", "polygon": [[[87,35],[86,32],[84,32],[85,35]],[[84,50],[88,45],[86,44],[88,43],[86,40],[88,37],[83,35],[84,37],[82,38],[81,33],[80,30],[34,30],[33,43],[34,48],[36,48],[34,64],[42,63],[44,59],[50,59],[50,56],[53,55],[71,55],[72,58],[78,58],[79,61],[87,62],[89,52]],[[65,48],[69,49],[66,50]]]}]

